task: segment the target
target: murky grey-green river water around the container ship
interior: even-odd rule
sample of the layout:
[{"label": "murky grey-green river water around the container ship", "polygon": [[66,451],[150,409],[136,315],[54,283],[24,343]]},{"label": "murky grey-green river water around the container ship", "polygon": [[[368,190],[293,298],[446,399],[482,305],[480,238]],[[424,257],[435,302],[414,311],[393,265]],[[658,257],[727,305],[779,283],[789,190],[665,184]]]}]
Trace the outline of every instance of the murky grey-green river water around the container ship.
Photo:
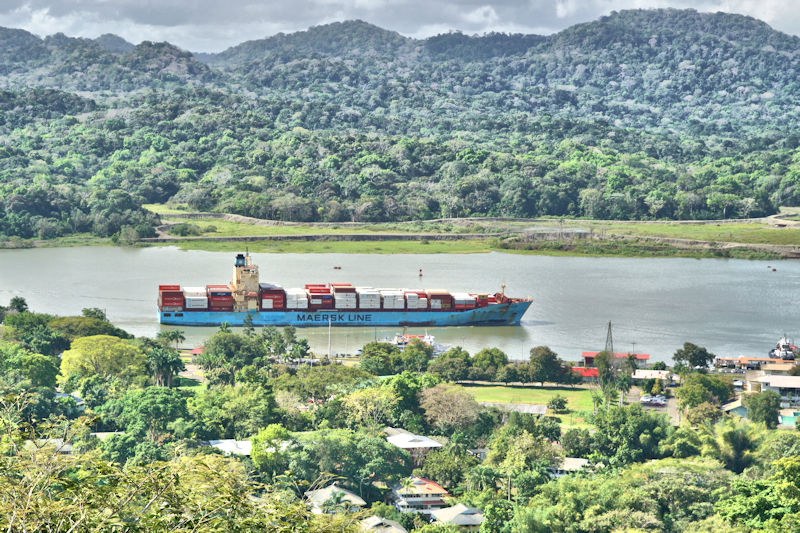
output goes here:
[{"label": "murky grey-green river water around the container ship", "polygon": [[[520,359],[533,346],[548,345],[562,358],[576,360],[581,351],[603,349],[609,321],[616,351],[649,353],[651,361],[669,361],[686,341],[718,355],[764,356],[784,332],[800,340],[800,306],[794,302],[800,261],[500,253],[253,256],[262,281],[285,287],[349,281],[373,287],[495,292],[505,283],[506,294],[534,298],[520,327],[429,328],[437,342],[460,345],[471,353],[497,346]],[[154,336],[162,329],[156,312],[158,284],[227,283],[233,259],[232,253],[166,247],[4,250],[0,303],[23,296],[32,310],[59,315],[99,307],[117,326]],[[202,344],[215,331],[183,329],[187,346]],[[331,350],[353,352],[398,332],[333,328]],[[318,353],[328,352],[327,328],[299,333]]]}]

